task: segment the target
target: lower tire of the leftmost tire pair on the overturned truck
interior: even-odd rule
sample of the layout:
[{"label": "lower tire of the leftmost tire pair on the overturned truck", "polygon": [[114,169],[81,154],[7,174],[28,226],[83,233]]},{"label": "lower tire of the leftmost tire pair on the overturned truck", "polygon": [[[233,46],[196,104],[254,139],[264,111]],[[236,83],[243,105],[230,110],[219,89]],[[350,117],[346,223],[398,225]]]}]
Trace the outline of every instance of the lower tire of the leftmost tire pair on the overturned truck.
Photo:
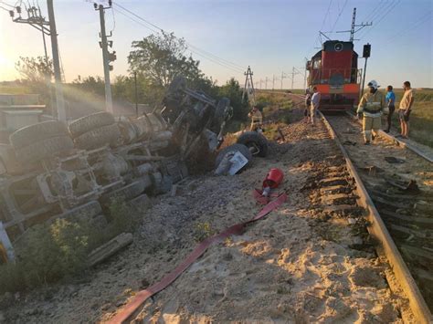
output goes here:
[{"label": "lower tire of the leftmost tire pair on the overturned truck", "polygon": [[16,158],[22,162],[37,162],[51,156],[58,155],[74,148],[74,143],[69,136],[59,136],[50,139],[36,141],[31,145],[16,151]]}]

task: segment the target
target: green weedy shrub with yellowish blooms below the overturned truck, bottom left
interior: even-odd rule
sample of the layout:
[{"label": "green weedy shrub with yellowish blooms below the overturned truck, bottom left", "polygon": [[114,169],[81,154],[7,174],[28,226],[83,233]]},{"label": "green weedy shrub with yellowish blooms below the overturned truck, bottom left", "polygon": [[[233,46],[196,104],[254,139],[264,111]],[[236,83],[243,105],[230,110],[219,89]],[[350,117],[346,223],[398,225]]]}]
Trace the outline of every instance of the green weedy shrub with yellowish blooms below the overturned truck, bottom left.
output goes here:
[{"label": "green weedy shrub with yellowish blooms below the overturned truck, bottom left", "polygon": [[29,228],[16,243],[16,263],[0,266],[0,294],[82,274],[90,251],[139,226],[139,214],[124,202],[111,202],[110,214],[105,228],[65,219]]}]

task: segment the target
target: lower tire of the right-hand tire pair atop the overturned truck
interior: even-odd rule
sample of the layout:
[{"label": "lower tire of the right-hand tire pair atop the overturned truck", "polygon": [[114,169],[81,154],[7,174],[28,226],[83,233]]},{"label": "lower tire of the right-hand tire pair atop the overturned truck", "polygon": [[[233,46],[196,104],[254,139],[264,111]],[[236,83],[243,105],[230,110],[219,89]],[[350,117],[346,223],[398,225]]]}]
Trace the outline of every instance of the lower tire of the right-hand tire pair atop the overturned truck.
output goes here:
[{"label": "lower tire of the right-hand tire pair atop the overturned truck", "polygon": [[82,150],[93,150],[104,145],[116,146],[121,137],[121,131],[117,124],[106,125],[84,134],[74,139],[75,147]]}]

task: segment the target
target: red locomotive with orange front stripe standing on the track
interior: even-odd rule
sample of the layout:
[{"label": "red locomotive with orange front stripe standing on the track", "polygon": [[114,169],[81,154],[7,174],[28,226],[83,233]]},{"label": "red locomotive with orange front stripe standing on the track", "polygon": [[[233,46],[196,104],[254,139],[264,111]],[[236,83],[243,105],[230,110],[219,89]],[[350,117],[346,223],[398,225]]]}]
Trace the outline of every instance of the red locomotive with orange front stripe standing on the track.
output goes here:
[{"label": "red locomotive with orange front stripe standing on the track", "polygon": [[359,100],[361,73],[353,42],[329,40],[307,62],[308,86],[322,94],[319,110],[340,111]]}]

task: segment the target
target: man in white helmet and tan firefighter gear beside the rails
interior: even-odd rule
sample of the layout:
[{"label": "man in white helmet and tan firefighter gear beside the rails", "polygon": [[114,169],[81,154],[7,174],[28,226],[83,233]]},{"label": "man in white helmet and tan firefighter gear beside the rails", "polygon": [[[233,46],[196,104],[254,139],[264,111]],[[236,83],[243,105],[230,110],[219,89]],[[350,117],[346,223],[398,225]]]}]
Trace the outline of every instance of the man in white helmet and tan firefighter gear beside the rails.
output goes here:
[{"label": "man in white helmet and tan firefighter gear beside the rails", "polygon": [[364,93],[356,111],[358,116],[364,115],[363,131],[365,145],[369,145],[375,139],[375,136],[377,136],[381,128],[381,117],[385,110],[385,96],[377,90],[380,86],[375,80],[368,82],[367,86],[369,91]]}]

